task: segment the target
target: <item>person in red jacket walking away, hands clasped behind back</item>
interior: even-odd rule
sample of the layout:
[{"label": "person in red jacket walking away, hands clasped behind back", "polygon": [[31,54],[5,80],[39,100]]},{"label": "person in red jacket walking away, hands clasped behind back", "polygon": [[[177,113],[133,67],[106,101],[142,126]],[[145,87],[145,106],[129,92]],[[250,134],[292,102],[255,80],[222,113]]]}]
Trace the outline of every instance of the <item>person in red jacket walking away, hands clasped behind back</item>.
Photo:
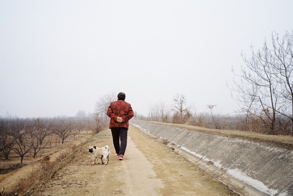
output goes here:
[{"label": "person in red jacket walking away, hands clasped behind back", "polygon": [[[127,131],[129,120],[133,117],[131,105],[125,102],[125,93],[119,93],[117,101],[110,104],[107,115],[111,118],[109,129],[111,129],[113,144],[119,160],[123,160],[127,145]],[[119,143],[119,139],[121,144]]]}]

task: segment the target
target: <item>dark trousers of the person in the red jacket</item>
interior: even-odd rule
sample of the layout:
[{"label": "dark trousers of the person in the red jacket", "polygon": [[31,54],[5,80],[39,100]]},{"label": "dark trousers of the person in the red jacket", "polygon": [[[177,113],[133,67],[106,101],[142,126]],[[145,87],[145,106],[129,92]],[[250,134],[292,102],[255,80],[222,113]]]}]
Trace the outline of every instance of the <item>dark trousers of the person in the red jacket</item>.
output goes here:
[{"label": "dark trousers of the person in the red jacket", "polygon": [[[127,128],[125,127],[113,127],[111,128],[113,144],[116,154],[124,155],[127,145]],[[121,144],[119,143],[119,139]]]}]

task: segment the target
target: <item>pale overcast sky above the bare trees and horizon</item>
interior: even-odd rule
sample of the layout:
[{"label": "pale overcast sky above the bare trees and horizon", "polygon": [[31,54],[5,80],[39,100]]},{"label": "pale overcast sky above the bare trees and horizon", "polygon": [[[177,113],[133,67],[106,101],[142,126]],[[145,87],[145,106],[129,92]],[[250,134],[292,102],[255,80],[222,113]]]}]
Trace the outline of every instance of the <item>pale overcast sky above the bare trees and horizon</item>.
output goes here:
[{"label": "pale overcast sky above the bare trees and horizon", "polygon": [[0,0],[0,116],[74,116],[122,91],[136,113],[183,94],[238,109],[241,51],[293,29],[292,0]]}]

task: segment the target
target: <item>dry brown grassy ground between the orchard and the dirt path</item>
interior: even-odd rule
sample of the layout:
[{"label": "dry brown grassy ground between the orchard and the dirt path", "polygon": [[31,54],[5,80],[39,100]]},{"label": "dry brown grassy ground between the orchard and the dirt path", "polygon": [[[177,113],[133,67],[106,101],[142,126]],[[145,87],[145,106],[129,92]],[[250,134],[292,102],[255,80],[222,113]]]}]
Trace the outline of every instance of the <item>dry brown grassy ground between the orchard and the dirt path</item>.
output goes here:
[{"label": "dry brown grassy ground between the orchard and the dirt path", "polygon": [[[2,190],[0,189],[0,196],[2,196],[1,191],[6,196],[15,195],[16,193],[17,195],[30,195],[29,190],[33,185],[54,176],[59,168],[64,166],[62,165],[63,161],[72,158],[70,156],[72,155],[72,149],[88,140],[92,135],[92,132],[82,132],[76,135],[75,140],[67,140],[64,144],[59,143],[58,139],[52,136],[50,138],[52,144],[43,149],[36,158],[32,158],[31,155],[25,156],[23,159],[24,164],[20,164],[20,157],[14,153],[11,154],[8,160],[1,160],[0,168],[8,173],[4,171],[0,175],[0,187],[3,187]],[[13,167],[16,165],[19,166]],[[14,171],[9,169],[11,167]],[[10,180],[10,178],[13,178],[13,180]],[[7,187],[2,186],[3,183],[7,184],[7,181],[15,182],[7,185]]]}]

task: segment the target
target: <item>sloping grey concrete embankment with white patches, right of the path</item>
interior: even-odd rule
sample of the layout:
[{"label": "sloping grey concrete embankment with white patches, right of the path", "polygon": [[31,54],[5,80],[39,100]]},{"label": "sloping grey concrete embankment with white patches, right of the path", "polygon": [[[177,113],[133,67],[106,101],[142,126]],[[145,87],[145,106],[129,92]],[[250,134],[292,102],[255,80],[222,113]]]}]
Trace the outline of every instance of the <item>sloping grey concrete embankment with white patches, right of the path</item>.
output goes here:
[{"label": "sloping grey concrete embankment with white patches, right of the path", "polygon": [[241,195],[293,195],[293,151],[178,127],[130,120]]}]

